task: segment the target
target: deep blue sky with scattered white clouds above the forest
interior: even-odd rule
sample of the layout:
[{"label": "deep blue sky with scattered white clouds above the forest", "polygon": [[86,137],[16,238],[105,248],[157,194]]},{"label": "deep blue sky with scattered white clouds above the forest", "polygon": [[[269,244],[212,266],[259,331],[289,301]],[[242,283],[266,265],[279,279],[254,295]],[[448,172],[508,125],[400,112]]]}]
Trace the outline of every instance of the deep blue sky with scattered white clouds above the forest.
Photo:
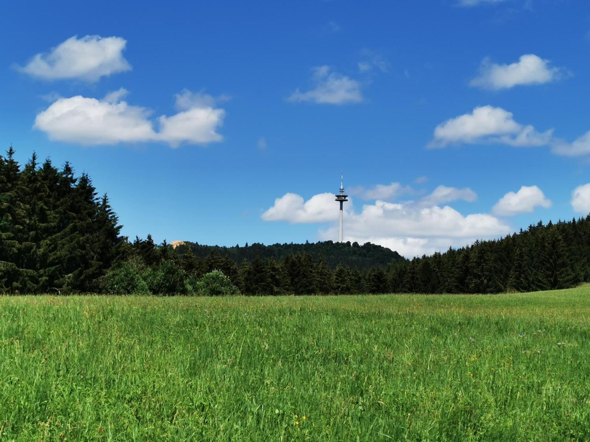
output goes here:
[{"label": "deep blue sky with scattered white clouds above the forest", "polygon": [[12,2],[3,16],[5,146],[90,173],[130,238],[336,240],[341,170],[345,240],[405,256],[590,212],[585,1]]}]

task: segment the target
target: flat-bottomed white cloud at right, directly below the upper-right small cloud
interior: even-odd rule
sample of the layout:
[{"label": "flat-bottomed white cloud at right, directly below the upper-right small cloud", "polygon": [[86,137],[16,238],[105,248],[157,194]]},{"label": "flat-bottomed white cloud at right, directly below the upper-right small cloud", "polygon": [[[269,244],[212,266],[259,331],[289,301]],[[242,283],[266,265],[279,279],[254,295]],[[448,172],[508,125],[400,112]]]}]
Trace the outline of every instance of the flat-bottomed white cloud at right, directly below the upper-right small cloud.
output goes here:
[{"label": "flat-bottomed white cloud at right, directly below the upper-right small cloud", "polygon": [[514,121],[511,112],[487,105],[439,124],[434,129],[430,147],[445,147],[455,143],[499,143],[527,147],[546,146],[552,141],[552,130],[537,132],[533,126]]}]

